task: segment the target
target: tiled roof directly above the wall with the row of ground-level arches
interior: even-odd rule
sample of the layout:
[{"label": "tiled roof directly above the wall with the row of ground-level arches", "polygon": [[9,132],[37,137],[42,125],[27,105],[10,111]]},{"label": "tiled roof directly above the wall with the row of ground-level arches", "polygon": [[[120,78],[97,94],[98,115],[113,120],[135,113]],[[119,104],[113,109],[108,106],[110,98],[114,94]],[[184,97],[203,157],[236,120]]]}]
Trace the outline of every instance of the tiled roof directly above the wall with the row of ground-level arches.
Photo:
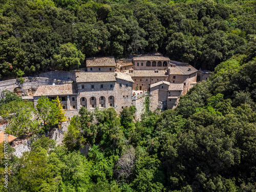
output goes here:
[{"label": "tiled roof directly above the wall with the row of ground-level arches", "polygon": [[88,73],[77,72],[76,82],[103,82],[103,81],[116,81],[115,73]]}]

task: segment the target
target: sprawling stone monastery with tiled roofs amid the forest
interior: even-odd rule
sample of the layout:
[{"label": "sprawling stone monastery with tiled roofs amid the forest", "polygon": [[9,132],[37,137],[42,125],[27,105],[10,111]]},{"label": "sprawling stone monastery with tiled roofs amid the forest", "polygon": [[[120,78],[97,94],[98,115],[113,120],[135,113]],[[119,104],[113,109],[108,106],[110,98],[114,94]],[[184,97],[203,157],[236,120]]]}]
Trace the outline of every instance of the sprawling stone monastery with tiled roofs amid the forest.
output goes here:
[{"label": "sprawling stone monastery with tiled roofs amid the forest", "polygon": [[135,105],[142,112],[145,96],[150,96],[152,111],[174,109],[180,96],[196,84],[197,72],[188,63],[162,55],[87,58],[86,68],[74,72],[72,83],[39,86],[33,100],[36,104],[42,95],[50,100],[59,97],[67,117],[78,114],[81,106],[120,112]]}]

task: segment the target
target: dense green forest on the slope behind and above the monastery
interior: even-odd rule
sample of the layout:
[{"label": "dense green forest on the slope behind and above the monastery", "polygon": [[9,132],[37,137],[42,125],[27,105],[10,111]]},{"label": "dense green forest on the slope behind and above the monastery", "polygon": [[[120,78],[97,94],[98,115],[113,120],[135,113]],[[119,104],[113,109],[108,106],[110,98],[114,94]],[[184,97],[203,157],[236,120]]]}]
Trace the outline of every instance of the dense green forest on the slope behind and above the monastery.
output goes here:
[{"label": "dense green forest on the slope behind and above the monastery", "polygon": [[214,70],[253,48],[255,10],[255,0],[1,0],[0,75],[150,51]]}]

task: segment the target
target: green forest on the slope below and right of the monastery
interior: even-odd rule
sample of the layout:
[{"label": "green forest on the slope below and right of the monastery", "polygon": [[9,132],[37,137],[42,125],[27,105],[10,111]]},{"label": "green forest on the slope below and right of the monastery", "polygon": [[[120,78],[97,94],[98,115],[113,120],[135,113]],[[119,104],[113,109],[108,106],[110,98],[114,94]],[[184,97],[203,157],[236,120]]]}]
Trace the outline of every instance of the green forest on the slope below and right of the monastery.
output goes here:
[{"label": "green forest on the slope below and right of the monastery", "polygon": [[[21,158],[9,147],[8,188],[0,145],[0,191],[256,191],[255,59],[251,49],[221,62],[175,110],[151,112],[148,96],[141,121],[134,119],[134,106],[120,115],[82,107],[61,146],[43,136],[65,121],[58,100],[42,97],[34,109],[2,92],[6,132],[34,136],[31,152]],[[87,157],[79,152],[86,145]]]}]

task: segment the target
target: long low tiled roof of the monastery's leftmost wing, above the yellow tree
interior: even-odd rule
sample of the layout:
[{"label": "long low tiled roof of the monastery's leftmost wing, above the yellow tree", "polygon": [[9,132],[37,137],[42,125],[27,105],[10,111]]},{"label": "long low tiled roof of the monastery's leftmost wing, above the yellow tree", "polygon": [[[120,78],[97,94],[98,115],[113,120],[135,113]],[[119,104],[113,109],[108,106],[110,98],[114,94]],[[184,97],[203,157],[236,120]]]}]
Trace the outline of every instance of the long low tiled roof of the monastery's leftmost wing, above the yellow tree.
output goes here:
[{"label": "long low tiled roof of the monastery's leftmost wing, above the yellow tree", "polygon": [[74,95],[77,94],[76,84],[57,84],[51,86],[39,86],[34,96],[51,96],[51,95]]}]

